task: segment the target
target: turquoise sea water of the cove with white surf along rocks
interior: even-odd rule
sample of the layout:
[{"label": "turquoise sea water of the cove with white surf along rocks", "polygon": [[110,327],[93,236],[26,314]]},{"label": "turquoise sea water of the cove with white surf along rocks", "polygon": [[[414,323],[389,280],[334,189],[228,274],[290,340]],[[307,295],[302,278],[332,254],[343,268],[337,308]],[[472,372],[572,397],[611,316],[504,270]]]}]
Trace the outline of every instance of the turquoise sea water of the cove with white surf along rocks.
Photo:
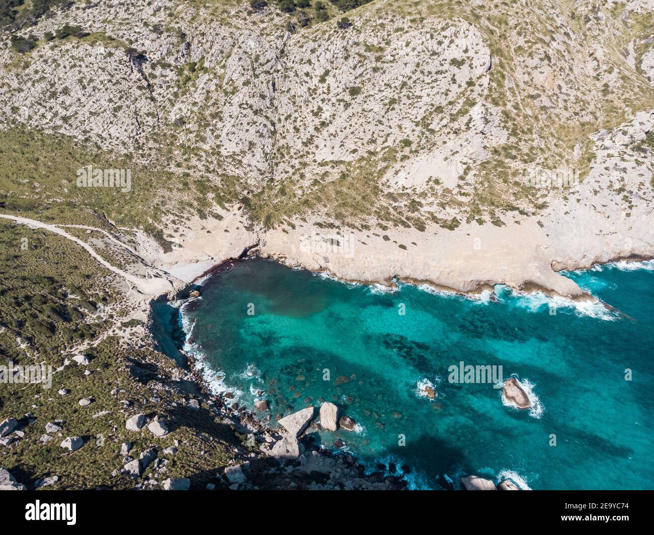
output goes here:
[{"label": "turquoise sea water of the cove with white surf along rocks", "polygon": [[[617,313],[500,286],[496,301],[384,292],[249,260],[205,281],[183,317],[213,387],[237,406],[264,390],[274,423],[332,401],[357,430],[315,440],[339,438],[371,467],[408,465],[412,487],[477,474],[532,489],[642,489],[654,477],[654,265],[644,266],[568,274]],[[534,407],[508,406],[489,383],[449,382],[461,361],[502,366]]]}]

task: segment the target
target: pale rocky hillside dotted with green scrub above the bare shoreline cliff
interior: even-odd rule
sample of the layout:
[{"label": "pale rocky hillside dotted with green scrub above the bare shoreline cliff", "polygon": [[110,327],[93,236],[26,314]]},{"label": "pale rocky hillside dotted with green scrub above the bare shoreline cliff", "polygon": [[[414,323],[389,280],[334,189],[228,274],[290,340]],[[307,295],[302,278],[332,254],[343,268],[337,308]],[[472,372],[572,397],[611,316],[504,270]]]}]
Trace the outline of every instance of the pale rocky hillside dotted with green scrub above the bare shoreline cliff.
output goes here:
[{"label": "pale rocky hillside dotted with green scrub above the bare shoreline cliff", "polygon": [[542,205],[528,169],[583,179],[592,133],[654,109],[646,1],[340,3],[347,17],[339,3],[264,4],[19,9],[0,50],[3,149],[61,151],[74,168],[36,191],[14,173],[3,190],[120,221],[115,199],[61,188],[75,162],[118,160],[138,169],[140,226],[192,207],[220,218],[234,201],[266,227],[502,224]]}]

